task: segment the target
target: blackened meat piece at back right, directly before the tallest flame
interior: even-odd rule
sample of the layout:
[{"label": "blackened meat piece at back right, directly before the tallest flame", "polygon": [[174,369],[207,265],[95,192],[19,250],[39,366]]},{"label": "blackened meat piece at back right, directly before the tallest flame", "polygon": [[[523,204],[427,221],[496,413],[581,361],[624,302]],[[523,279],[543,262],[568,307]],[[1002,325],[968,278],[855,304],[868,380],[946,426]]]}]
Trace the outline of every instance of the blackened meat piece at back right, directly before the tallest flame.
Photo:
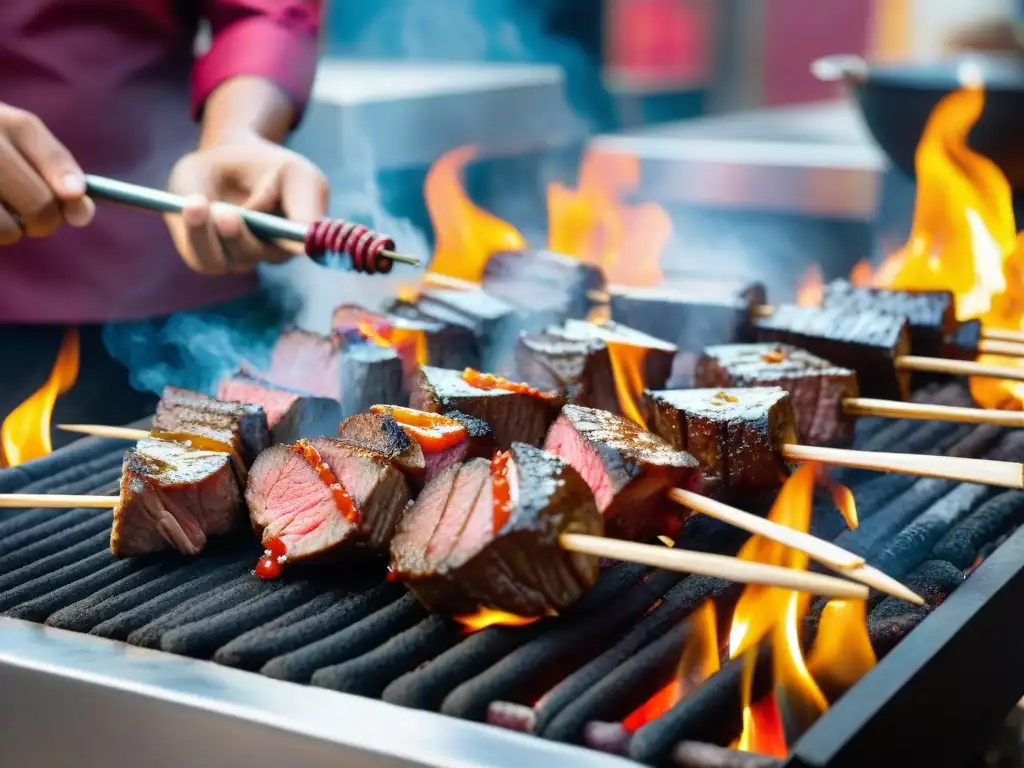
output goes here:
[{"label": "blackened meat piece at back right, directly before the tallest flame", "polygon": [[912,354],[941,357],[947,339],[956,332],[956,297],[952,291],[905,291],[854,286],[835,280],[821,298],[825,309],[882,312],[905,317]]}]

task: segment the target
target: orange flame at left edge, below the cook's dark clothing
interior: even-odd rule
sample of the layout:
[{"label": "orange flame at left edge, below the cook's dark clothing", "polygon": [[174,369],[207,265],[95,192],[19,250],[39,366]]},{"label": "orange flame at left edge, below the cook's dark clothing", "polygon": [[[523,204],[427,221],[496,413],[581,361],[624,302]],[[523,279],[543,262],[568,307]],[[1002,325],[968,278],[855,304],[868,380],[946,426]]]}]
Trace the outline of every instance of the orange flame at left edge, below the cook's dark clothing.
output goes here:
[{"label": "orange flame at left edge, below the cook's dark clothing", "polygon": [[50,418],[57,397],[78,378],[78,330],[69,329],[60,341],[49,378],[35,393],[15,408],[0,425],[0,464],[16,467],[53,451]]}]

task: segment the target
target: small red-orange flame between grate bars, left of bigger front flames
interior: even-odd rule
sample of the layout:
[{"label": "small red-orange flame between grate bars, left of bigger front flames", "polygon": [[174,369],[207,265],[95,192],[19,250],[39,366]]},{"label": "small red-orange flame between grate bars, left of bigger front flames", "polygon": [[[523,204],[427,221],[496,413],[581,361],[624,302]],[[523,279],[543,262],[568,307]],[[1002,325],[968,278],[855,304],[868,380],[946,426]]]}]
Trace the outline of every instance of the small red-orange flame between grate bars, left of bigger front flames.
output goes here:
[{"label": "small red-orange flame between grate bars, left of bigger front flames", "polygon": [[679,659],[675,679],[623,720],[623,727],[631,733],[656,720],[675,707],[688,691],[696,690],[701,683],[719,670],[718,618],[715,603],[705,600],[689,620],[689,640]]}]

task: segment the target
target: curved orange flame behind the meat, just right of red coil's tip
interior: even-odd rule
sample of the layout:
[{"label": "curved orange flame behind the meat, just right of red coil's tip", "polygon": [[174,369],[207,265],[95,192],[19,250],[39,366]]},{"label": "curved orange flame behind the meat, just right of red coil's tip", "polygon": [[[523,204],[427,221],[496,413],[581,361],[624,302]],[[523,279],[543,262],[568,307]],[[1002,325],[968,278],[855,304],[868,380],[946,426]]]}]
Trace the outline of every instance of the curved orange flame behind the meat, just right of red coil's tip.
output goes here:
[{"label": "curved orange flame behind the meat, just right of red coil's tip", "polygon": [[475,146],[460,146],[442,156],[427,172],[423,195],[436,239],[431,271],[479,283],[492,254],[521,251],[526,240],[469,199],[460,174],[475,157]]}]

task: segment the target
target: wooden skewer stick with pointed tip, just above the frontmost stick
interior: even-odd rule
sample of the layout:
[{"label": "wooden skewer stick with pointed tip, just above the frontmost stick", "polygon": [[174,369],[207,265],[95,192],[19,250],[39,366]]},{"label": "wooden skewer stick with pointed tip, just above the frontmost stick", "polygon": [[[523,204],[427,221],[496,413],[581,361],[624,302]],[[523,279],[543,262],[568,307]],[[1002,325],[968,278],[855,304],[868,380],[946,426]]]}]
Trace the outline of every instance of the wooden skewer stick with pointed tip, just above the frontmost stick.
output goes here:
[{"label": "wooden skewer stick with pointed tip, just above the frontmost stick", "polygon": [[914,605],[924,605],[925,601],[913,590],[900,584],[878,568],[872,568],[864,563],[864,558],[858,557],[852,552],[847,552],[842,547],[837,547],[830,542],[817,539],[810,534],[805,534],[796,528],[788,528],[776,522],[744,512],[741,509],[730,507],[714,499],[708,499],[690,490],[675,488],[669,492],[669,499],[676,504],[689,507],[694,512],[700,512],[716,520],[735,525],[737,528],[748,530],[755,536],[762,536],[773,542],[783,544],[786,547],[803,552],[812,560],[816,560],[823,565],[835,568],[848,579],[860,582],[868,587],[873,587],[879,592],[892,595],[900,600],[906,600]]}]

